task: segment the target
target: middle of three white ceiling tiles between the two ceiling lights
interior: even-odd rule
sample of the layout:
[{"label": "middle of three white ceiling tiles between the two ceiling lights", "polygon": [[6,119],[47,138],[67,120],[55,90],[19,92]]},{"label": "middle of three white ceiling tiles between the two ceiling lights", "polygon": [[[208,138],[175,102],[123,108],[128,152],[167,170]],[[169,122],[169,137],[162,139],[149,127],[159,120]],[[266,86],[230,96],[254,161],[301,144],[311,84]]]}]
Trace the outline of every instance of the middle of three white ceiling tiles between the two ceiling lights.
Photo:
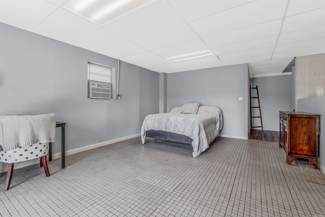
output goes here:
[{"label": "middle of three white ceiling tiles between the two ceiling lights", "polygon": [[198,38],[198,35],[195,34],[188,25],[184,24],[157,34],[134,40],[133,42],[148,50],[155,50]]}]

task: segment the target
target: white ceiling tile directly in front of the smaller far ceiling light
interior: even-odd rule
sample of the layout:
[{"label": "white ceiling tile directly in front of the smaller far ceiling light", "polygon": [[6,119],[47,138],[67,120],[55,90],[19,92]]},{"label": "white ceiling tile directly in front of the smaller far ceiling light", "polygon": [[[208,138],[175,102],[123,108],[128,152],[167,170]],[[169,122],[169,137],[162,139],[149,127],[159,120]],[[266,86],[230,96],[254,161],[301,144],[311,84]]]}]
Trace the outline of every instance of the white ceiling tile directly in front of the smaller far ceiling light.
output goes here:
[{"label": "white ceiling tile directly in front of the smaller far ceiling light", "polygon": [[208,48],[209,47],[201,39],[196,39],[164,48],[159,48],[153,50],[152,52],[156,53],[159,56],[170,57],[199,50],[206,50]]}]

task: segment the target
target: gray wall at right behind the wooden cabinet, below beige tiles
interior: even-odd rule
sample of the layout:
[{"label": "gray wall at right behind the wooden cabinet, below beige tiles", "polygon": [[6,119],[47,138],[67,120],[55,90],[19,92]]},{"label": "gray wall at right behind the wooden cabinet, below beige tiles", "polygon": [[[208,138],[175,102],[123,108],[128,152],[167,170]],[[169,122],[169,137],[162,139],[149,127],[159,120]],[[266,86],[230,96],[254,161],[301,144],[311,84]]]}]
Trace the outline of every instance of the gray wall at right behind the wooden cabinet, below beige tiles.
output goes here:
[{"label": "gray wall at right behind the wooden cabinet, below beige tiles", "polygon": [[320,134],[319,134],[319,159],[323,173],[325,173],[325,97],[313,97],[297,100],[296,111],[305,111],[320,114]]}]

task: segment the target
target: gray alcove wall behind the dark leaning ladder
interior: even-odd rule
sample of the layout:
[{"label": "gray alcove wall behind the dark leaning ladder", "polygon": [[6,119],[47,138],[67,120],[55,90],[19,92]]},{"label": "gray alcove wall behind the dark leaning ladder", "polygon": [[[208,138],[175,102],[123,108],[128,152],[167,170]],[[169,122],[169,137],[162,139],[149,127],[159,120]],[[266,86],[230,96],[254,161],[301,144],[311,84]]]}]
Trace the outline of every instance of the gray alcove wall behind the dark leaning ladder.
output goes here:
[{"label": "gray alcove wall behind the dark leaning ladder", "polygon": [[[250,85],[258,86],[259,102],[263,120],[263,129],[279,131],[279,111],[292,111],[293,80],[291,75],[251,78]],[[251,90],[256,97],[256,90]],[[252,106],[258,106],[257,99],[252,99]],[[259,115],[258,109],[252,109],[253,116]],[[259,118],[253,118],[253,126],[261,126]],[[257,128],[259,129],[259,128]]]}]

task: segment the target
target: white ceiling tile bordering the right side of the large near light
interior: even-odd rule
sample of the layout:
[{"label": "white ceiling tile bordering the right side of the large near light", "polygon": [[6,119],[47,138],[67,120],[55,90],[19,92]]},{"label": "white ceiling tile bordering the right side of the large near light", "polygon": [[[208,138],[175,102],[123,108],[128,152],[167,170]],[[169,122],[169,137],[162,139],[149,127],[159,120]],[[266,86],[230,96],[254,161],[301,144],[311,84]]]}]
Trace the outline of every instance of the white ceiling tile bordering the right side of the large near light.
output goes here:
[{"label": "white ceiling tile bordering the right side of the large near light", "polygon": [[167,2],[156,2],[105,26],[128,40],[152,35],[185,23]]}]

